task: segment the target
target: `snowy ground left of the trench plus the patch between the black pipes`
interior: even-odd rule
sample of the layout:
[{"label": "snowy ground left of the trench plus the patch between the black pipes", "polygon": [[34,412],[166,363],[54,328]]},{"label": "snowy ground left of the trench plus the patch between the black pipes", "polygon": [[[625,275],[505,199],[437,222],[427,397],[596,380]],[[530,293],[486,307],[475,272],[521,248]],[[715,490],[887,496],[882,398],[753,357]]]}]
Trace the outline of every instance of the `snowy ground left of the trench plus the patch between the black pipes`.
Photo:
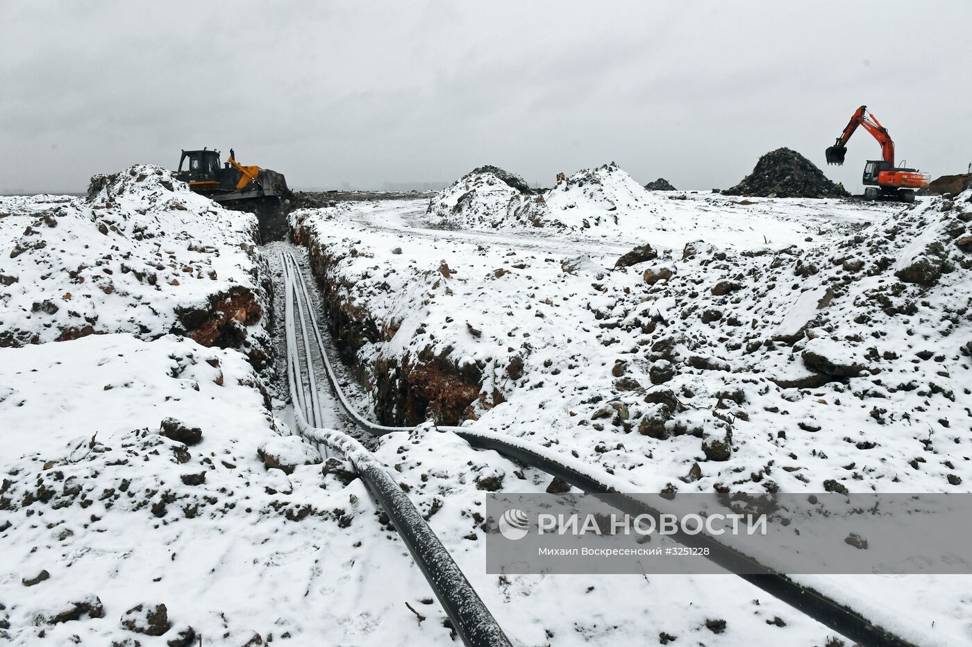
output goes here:
[{"label": "snowy ground left of the trench plus the patch between the black pipes", "polygon": [[[0,641],[454,644],[425,579],[346,464],[288,474],[261,459],[317,460],[269,408],[272,390],[247,344],[269,328],[259,289],[268,264],[252,247],[252,218],[166,187],[164,172],[133,171],[109,183],[111,197],[8,198],[0,211],[12,232],[2,257],[23,248],[0,265],[16,279],[0,296],[9,333],[0,349]],[[256,295],[259,317],[219,316],[234,285]],[[35,312],[34,301],[58,308]],[[181,309],[211,315],[203,342],[245,331],[219,343],[239,342],[249,357],[198,343],[200,328],[178,324]],[[76,319],[91,328],[63,334]],[[726,645],[769,644],[781,631],[806,644],[826,635],[772,600],[723,599],[714,577],[672,597],[664,577],[486,575],[478,484],[502,475],[541,492],[549,477],[428,429],[391,434],[376,453],[516,644],[608,645],[662,631]],[[785,628],[767,624],[777,615]],[[730,620],[722,634],[706,628],[716,617]]]}]

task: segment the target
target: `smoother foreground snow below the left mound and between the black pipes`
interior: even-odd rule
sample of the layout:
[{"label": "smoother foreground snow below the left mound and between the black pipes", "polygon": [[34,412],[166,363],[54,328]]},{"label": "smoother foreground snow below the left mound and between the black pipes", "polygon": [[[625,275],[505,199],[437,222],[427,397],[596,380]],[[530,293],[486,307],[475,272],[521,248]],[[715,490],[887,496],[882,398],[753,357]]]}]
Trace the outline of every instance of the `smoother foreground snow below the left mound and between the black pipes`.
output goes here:
[{"label": "smoother foreground snow below the left mound and between the black pipes", "polygon": [[[279,424],[240,354],[174,336],[65,344],[70,353],[57,344],[7,350],[0,365],[0,383],[16,385],[0,401],[4,439],[20,457],[5,461],[0,508],[0,616],[12,644],[74,644],[77,635],[77,644],[162,645],[187,626],[203,644],[233,647],[254,633],[295,645],[454,644],[359,480],[345,485],[321,465],[290,475],[264,467],[258,448],[279,438]],[[198,428],[200,442],[160,435],[168,418]],[[608,645],[662,630],[707,644],[822,642],[824,630],[780,603],[724,599],[717,576],[678,597],[666,593],[675,579],[662,576],[487,576],[468,513],[482,509],[475,475],[516,478],[516,465],[430,430],[392,434],[377,456],[398,466],[391,473],[517,644]],[[525,476],[518,490],[545,488],[542,475]],[[22,584],[42,571],[49,579]],[[93,598],[102,618],[45,621]],[[160,638],[123,629],[137,604],[165,604],[172,628]],[[722,636],[705,628],[713,613],[729,619]],[[775,616],[787,627],[765,623]]]}]

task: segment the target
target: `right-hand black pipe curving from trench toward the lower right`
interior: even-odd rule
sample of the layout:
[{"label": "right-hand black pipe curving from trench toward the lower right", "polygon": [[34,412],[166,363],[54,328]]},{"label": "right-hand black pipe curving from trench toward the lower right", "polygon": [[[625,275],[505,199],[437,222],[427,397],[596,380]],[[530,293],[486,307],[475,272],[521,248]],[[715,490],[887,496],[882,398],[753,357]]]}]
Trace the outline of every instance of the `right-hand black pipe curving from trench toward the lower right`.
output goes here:
[{"label": "right-hand black pipe curving from trench toward the lower right", "polygon": [[[308,306],[310,333],[318,346],[318,352],[322,358],[331,390],[335,393],[344,413],[355,426],[375,436],[395,431],[412,430],[412,427],[383,426],[372,423],[365,419],[349,401],[340,387],[333,365],[328,357],[321,327],[318,324],[317,315],[313,312],[312,301],[307,293],[299,265],[293,255],[290,253],[287,253],[287,255],[289,256],[291,271],[297,274],[296,281],[305,299],[304,302]],[[617,479],[607,472],[603,474],[594,473],[590,465],[580,460],[568,458],[563,453],[551,451],[527,440],[478,430],[469,426],[438,426],[437,428],[456,433],[476,449],[494,450],[508,459],[536,467],[551,476],[566,481],[584,493],[604,494],[606,495],[604,500],[610,505],[632,516],[639,514],[657,516],[659,514],[659,511],[648,507],[642,500],[630,495],[634,490],[631,484]],[[673,538],[685,546],[708,548],[707,559],[727,570],[734,571],[735,567],[745,565],[747,572],[736,573],[738,577],[770,596],[785,602],[821,625],[843,634],[859,645],[864,647],[916,647],[915,643],[872,623],[846,604],[825,596],[813,588],[803,586],[783,573],[762,566],[751,557],[720,543],[711,536],[678,533]]]}]

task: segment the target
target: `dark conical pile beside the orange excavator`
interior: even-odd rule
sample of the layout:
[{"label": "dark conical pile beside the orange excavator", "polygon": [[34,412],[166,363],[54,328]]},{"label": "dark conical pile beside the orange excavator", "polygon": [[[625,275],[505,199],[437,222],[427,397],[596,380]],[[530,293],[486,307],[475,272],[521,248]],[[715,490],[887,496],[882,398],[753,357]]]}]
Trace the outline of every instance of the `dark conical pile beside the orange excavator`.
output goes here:
[{"label": "dark conical pile beside the orange excavator", "polygon": [[827,180],[823,172],[800,153],[777,149],[756,162],[741,183],[722,191],[726,195],[759,197],[846,197],[844,187]]}]

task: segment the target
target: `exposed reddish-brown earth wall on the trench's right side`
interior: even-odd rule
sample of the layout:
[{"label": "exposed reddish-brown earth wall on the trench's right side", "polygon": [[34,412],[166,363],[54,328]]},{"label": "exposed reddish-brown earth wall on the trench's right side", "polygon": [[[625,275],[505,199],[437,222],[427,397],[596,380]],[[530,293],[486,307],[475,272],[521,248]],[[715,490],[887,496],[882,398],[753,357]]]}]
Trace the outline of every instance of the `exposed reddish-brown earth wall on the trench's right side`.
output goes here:
[{"label": "exposed reddish-brown earth wall on the trench's right side", "polygon": [[482,374],[475,364],[460,368],[447,351],[436,355],[428,349],[400,358],[378,354],[363,362],[359,351],[366,344],[390,341],[397,330],[350,300],[352,286],[336,271],[340,258],[330,255],[303,226],[292,234],[295,244],[307,250],[335,352],[348,374],[372,394],[378,423],[415,426],[432,420],[459,425],[474,418],[482,390]]}]

